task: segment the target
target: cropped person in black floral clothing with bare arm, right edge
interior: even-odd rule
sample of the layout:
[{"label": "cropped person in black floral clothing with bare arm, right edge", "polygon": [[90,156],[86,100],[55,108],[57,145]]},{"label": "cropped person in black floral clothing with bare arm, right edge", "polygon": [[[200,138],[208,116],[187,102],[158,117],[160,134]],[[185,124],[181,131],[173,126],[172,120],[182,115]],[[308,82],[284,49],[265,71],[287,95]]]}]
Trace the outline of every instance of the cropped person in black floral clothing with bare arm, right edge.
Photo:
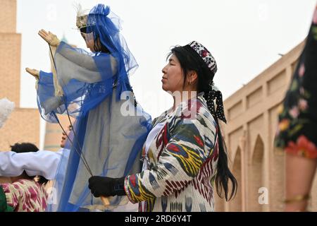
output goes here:
[{"label": "cropped person in black floral clothing with bare arm, right edge", "polygon": [[317,167],[317,6],[280,108],[275,146],[285,151],[285,210],[306,211]]}]

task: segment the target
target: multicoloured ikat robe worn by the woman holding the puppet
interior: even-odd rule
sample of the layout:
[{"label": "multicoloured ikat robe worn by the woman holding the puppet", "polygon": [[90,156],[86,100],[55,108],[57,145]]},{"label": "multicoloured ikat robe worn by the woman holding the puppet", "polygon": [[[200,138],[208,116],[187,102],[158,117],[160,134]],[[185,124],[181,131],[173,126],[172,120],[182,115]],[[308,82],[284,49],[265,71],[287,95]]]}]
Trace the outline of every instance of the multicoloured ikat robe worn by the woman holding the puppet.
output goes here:
[{"label": "multicoloured ikat robe worn by the woman holding the puppet", "polygon": [[[189,119],[189,111],[196,117],[190,114]],[[140,203],[139,211],[213,211],[218,162],[216,121],[202,95],[167,113],[153,121],[153,126],[163,123],[163,128],[147,155],[143,147],[148,169],[126,177],[125,192],[132,203]]]}]

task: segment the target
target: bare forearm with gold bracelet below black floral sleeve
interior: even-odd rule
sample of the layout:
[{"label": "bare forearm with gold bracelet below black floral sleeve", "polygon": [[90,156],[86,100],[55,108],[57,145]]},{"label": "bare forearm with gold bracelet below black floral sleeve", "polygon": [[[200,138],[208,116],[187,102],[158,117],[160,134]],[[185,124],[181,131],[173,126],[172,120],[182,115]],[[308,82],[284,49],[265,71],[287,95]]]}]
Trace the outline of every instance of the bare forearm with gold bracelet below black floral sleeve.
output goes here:
[{"label": "bare forearm with gold bracelet below black floral sleeve", "polygon": [[[317,159],[286,153],[286,199],[309,194]],[[285,203],[285,211],[305,211],[308,200]]]}]

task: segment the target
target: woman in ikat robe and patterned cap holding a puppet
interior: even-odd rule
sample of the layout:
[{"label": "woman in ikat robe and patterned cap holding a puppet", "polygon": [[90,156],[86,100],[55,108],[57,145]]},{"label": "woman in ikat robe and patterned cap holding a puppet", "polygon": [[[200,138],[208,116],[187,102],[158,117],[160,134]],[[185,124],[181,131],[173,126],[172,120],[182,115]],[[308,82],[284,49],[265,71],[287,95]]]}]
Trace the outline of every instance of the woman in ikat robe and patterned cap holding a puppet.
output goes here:
[{"label": "woman in ikat robe and patterned cap holding a puppet", "polygon": [[126,195],[140,203],[139,211],[175,212],[213,211],[214,184],[227,201],[235,195],[237,181],[228,169],[218,121],[225,121],[222,96],[212,88],[216,71],[215,59],[202,44],[172,49],[162,70],[162,88],[173,95],[174,105],[152,122],[142,172],[91,177],[94,196]]}]

